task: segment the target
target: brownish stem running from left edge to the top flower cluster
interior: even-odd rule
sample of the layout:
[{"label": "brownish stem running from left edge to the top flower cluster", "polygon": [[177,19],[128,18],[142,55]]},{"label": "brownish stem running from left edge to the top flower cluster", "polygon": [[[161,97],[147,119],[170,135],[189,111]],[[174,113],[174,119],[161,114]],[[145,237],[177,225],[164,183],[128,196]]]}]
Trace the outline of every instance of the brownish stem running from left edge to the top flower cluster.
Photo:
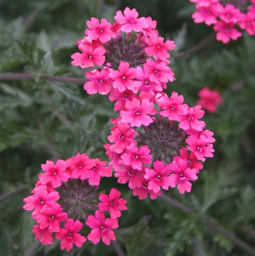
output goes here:
[{"label": "brownish stem running from left edge to the top flower cluster", "polygon": [[[0,74],[0,80],[34,80],[33,73],[5,73]],[[48,76],[43,75],[40,80],[59,81],[63,83],[84,84],[88,79],[76,77],[63,77],[63,76]]]}]

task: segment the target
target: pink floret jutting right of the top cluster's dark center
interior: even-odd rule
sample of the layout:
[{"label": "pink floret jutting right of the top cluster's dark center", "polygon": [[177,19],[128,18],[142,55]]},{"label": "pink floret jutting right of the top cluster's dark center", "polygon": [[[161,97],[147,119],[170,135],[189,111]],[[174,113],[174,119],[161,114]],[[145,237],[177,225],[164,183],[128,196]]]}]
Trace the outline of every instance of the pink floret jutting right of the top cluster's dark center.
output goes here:
[{"label": "pink floret jutting right of the top cluster's dark center", "polygon": [[146,38],[145,42],[148,44],[145,48],[145,52],[148,56],[157,55],[157,57],[162,61],[165,61],[170,57],[170,54],[167,51],[175,49],[174,41],[167,40],[164,43],[163,37],[154,36]]}]

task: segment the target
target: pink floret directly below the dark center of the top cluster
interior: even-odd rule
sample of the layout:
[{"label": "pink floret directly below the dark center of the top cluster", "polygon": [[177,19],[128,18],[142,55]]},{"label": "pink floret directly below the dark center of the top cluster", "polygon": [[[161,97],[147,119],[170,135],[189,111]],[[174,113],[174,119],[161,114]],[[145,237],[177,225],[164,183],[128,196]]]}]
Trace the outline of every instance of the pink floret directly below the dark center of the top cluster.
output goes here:
[{"label": "pink floret directly below the dark center of the top cluster", "polygon": [[114,80],[112,86],[118,89],[120,92],[124,92],[127,89],[134,89],[134,79],[136,77],[136,69],[129,68],[129,63],[121,61],[119,64],[119,71],[110,69],[109,76]]}]

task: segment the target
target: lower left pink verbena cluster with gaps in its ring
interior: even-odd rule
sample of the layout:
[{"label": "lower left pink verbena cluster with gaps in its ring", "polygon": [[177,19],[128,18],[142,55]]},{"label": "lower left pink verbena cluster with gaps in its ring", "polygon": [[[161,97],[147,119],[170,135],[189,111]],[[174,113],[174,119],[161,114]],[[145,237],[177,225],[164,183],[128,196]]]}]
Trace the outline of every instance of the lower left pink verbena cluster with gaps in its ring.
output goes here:
[{"label": "lower left pink verbena cluster with gaps in its ring", "polygon": [[[127,209],[127,201],[120,198],[120,192],[114,188],[109,198],[105,194],[99,195],[103,203],[96,200],[100,177],[112,176],[112,168],[105,165],[106,161],[80,153],[66,161],[58,160],[56,164],[47,161],[41,165],[44,173],[39,174],[32,195],[24,198],[26,204],[23,206],[25,210],[33,210],[32,217],[37,222],[32,231],[35,240],[40,239],[43,245],[52,244],[56,233],[62,250],[69,252],[73,244],[81,247],[86,241],[85,236],[79,233],[84,224],[82,220],[92,228],[87,236],[92,243],[98,243],[102,237],[103,242],[109,245],[110,240],[116,239],[111,229],[118,227],[119,210]],[[96,217],[91,215],[94,210],[97,210]],[[105,219],[103,212],[108,210],[110,218]]]}]

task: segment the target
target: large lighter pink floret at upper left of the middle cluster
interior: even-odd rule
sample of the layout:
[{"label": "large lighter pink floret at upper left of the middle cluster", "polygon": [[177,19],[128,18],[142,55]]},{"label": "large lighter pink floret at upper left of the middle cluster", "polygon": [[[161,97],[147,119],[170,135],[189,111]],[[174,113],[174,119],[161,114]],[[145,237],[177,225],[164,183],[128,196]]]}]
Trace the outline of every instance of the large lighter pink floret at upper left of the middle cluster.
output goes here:
[{"label": "large lighter pink floret at upper left of the middle cluster", "polygon": [[149,125],[153,122],[148,114],[153,114],[154,104],[149,102],[148,99],[142,101],[134,98],[132,101],[126,101],[125,107],[127,111],[120,111],[121,122],[130,123],[132,127]]}]

